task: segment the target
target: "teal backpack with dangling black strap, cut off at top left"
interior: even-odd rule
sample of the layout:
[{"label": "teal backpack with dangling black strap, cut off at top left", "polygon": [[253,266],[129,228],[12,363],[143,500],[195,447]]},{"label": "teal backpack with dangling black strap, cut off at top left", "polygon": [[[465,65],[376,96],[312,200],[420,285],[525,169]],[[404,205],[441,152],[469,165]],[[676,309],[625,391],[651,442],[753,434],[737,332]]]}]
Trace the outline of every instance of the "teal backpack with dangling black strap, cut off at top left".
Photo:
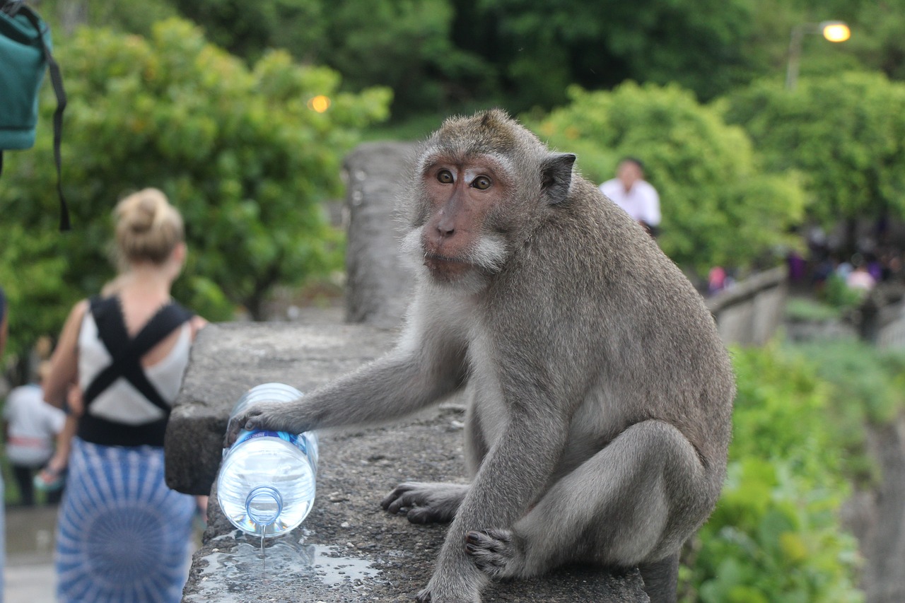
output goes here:
[{"label": "teal backpack with dangling black strap, cut off at top left", "polygon": [[32,148],[38,122],[38,91],[44,71],[51,72],[57,108],[53,113],[53,159],[60,196],[60,230],[69,230],[69,210],[62,196],[60,139],[66,92],[60,66],[51,53],[47,24],[23,0],[0,0],[0,174],[3,152]]}]

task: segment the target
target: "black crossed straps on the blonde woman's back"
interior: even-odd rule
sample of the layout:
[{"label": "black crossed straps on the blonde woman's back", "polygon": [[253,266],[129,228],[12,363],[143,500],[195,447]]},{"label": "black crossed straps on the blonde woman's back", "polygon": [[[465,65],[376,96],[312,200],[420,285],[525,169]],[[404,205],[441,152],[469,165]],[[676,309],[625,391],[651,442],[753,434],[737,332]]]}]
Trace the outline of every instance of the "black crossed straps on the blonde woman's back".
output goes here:
[{"label": "black crossed straps on the blonde woman's back", "polygon": [[130,339],[117,297],[103,300],[91,298],[90,311],[98,325],[98,336],[110,352],[113,361],[94,377],[88,388],[85,388],[85,407],[122,377],[138,389],[142,396],[147,397],[151,404],[169,413],[169,404],[148,380],[145,369],[141,366],[141,357],[157,343],[165,340],[173,330],[190,320],[192,312],[176,302],[171,302],[157,311],[138,335]]}]

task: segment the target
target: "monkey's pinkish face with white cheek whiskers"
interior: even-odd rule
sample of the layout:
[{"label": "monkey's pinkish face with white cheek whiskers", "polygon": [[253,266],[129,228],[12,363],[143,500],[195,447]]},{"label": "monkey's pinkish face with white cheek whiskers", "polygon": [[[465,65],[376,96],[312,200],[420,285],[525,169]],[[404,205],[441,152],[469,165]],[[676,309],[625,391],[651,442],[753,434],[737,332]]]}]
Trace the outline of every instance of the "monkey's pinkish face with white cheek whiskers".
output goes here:
[{"label": "monkey's pinkish face with white cheek whiskers", "polygon": [[509,198],[506,174],[490,157],[441,156],[424,163],[426,220],[419,229],[420,244],[434,280],[460,282],[500,270],[507,245],[493,223]]}]

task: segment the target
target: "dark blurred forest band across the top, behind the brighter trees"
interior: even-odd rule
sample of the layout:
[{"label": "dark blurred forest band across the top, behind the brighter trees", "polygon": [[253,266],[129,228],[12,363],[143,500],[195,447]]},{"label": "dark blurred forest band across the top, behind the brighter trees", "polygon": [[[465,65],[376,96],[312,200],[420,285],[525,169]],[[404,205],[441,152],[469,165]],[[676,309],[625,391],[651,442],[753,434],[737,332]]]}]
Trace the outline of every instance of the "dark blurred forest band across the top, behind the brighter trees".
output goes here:
[{"label": "dark blurred forest band across the top, behind the brighter trees", "polygon": [[842,44],[803,41],[801,72],[870,69],[901,79],[905,0],[41,0],[65,22],[147,35],[176,10],[248,62],[271,48],[343,74],[348,90],[395,91],[394,117],[503,105],[548,110],[576,83],[676,82],[709,101],[759,78],[782,79],[799,24],[844,19]]}]

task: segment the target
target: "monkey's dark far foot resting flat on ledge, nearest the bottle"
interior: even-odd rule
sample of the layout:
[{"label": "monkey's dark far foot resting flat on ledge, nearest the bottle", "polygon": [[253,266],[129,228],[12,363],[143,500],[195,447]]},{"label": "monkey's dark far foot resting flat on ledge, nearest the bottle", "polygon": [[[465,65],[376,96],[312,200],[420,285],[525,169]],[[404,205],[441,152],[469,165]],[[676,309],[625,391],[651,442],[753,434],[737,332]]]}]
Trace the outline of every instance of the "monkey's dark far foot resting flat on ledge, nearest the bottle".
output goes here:
[{"label": "monkey's dark far foot resting flat on ledge, nearest the bottle", "polygon": [[406,509],[405,517],[412,523],[452,522],[468,488],[465,483],[400,483],[380,506],[391,513]]}]

